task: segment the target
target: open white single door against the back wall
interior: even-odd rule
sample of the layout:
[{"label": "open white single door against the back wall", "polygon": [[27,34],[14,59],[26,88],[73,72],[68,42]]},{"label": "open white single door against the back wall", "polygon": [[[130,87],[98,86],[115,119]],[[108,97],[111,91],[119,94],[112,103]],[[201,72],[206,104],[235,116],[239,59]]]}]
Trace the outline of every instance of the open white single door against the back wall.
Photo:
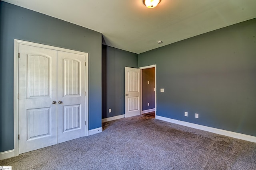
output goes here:
[{"label": "open white single door against the back wall", "polygon": [[140,69],[125,67],[125,117],[140,115]]}]

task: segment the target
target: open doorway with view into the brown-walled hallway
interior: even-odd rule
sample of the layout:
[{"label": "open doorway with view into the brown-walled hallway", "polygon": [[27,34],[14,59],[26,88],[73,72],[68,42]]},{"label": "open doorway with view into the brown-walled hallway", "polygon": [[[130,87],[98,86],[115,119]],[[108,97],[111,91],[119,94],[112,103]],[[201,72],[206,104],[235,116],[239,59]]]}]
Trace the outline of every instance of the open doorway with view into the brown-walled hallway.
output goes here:
[{"label": "open doorway with view into the brown-walled hallway", "polygon": [[156,65],[141,67],[142,115],[156,116]]}]

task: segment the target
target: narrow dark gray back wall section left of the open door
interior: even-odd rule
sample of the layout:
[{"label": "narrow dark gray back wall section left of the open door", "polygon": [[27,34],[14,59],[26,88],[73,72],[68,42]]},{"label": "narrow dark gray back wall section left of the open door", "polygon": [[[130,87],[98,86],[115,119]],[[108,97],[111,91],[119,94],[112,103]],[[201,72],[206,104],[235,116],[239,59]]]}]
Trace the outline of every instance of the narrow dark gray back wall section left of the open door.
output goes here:
[{"label": "narrow dark gray back wall section left of the open door", "polygon": [[[106,107],[102,110],[102,118],[107,118],[124,114],[124,67],[138,68],[138,54],[109,46],[103,46],[102,49],[105,51],[102,53],[102,58],[106,57],[102,59],[106,61],[106,67],[102,66],[106,69]],[[104,70],[102,70],[103,75]],[[104,86],[104,82],[102,85]],[[111,113],[108,113],[108,109],[111,109]]]}]

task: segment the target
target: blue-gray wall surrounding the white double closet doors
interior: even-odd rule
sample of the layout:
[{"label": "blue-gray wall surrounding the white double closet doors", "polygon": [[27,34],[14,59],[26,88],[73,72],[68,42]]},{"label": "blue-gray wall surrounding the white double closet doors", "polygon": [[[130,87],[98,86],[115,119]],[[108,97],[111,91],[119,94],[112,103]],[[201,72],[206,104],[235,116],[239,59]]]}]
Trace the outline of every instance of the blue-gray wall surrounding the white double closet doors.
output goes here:
[{"label": "blue-gray wall surrounding the white double closet doors", "polygon": [[89,53],[89,129],[101,127],[102,34],[0,1],[0,152],[14,149],[14,39]]}]

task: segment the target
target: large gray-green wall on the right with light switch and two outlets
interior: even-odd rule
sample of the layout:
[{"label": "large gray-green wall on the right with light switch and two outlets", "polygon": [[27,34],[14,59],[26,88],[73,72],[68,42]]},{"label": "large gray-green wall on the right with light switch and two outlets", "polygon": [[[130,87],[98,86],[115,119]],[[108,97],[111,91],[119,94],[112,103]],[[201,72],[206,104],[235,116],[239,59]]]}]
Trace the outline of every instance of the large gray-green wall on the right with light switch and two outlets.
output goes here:
[{"label": "large gray-green wall on the right with light switch and two outlets", "polygon": [[152,64],[157,115],[256,136],[256,19],[138,55]]}]

